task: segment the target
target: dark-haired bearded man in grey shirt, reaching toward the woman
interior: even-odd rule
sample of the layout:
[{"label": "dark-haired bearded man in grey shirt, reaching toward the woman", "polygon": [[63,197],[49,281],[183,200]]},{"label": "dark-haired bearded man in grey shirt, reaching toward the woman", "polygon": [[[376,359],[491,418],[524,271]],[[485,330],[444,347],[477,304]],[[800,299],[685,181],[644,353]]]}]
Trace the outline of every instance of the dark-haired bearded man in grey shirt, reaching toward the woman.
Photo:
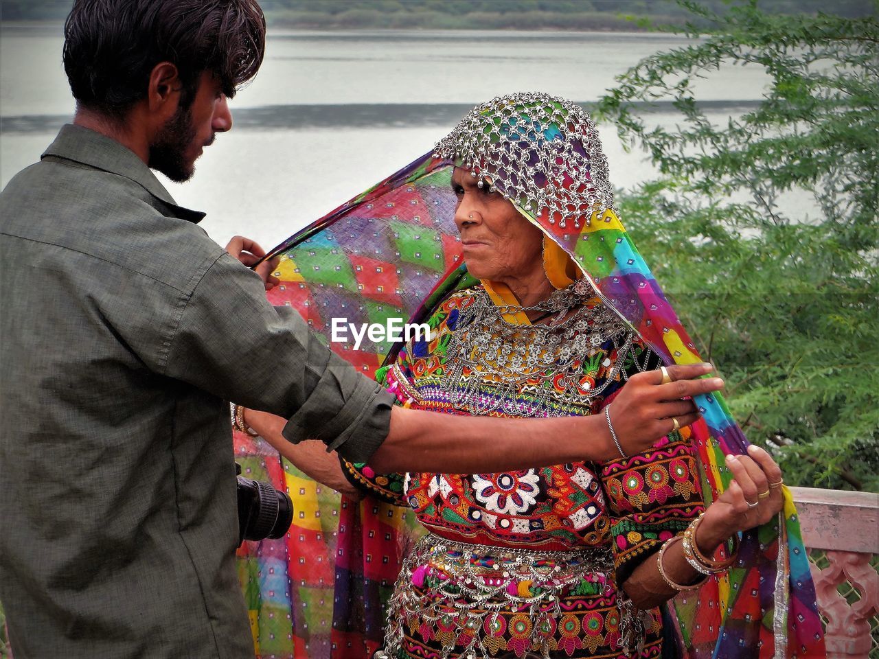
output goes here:
[{"label": "dark-haired bearded man in grey shirt, reaching toward the woman", "polygon": [[[0,600],[17,659],[253,655],[228,401],[384,471],[616,452],[599,417],[392,411],[391,395],[267,303],[270,266],[243,266],[257,245],[237,238],[230,255],[171,199],[151,169],[193,176],[264,48],[256,0],[76,0],[69,15],[74,122],[0,194]],[[668,415],[662,403],[648,418],[629,391],[616,431],[635,453]]]}]

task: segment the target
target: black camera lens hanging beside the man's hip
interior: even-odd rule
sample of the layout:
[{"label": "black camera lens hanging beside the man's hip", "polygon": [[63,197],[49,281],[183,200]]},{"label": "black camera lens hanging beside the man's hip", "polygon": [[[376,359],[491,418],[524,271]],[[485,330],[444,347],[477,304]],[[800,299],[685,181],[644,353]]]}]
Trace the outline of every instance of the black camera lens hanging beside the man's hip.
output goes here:
[{"label": "black camera lens hanging beside the man's hip", "polygon": [[293,502],[287,492],[271,483],[253,481],[238,474],[238,544],[244,540],[281,538],[293,522]]}]

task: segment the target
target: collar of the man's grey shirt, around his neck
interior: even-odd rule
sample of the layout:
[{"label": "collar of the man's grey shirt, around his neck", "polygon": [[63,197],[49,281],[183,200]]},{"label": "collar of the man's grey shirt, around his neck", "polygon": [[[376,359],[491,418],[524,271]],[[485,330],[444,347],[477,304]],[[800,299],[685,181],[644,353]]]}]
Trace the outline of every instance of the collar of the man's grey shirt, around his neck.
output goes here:
[{"label": "collar of the man's grey shirt, around his neck", "polygon": [[178,206],[164,185],[134,151],[89,128],[66,124],[41,157],[46,156],[64,158],[129,178],[156,199],[161,199],[180,220],[198,223],[205,217],[200,211]]}]

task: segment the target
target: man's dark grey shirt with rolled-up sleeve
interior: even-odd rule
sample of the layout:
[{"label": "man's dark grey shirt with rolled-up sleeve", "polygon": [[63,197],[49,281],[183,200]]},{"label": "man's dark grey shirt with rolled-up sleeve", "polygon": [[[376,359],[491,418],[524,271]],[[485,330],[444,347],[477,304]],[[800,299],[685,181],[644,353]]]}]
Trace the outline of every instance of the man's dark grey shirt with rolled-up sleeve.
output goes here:
[{"label": "man's dark grey shirt with rolled-up sleeve", "polygon": [[229,408],[363,461],[391,397],[133,152],[66,126],[0,194],[0,601],[17,659],[250,657]]}]

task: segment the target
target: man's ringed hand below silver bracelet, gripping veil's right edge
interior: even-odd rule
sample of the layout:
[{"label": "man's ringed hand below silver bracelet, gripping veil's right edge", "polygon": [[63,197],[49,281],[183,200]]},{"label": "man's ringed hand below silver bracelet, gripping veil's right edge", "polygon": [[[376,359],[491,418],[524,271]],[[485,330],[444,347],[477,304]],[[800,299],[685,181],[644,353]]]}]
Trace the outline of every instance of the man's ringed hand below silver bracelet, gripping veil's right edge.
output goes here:
[{"label": "man's ringed hand below silver bracelet, gripping veil's right edge", "polygon": [[614,397],[609,414],[614,432],[626,455],[642,453],[678,427],[693,424],[701,416],[694,395],[710,394],[723,388],[720,378],[702,375],[714,369],[710,364],[666,366],[671,382],[662,384],[662,371],[645,371],[629,377]]}]

